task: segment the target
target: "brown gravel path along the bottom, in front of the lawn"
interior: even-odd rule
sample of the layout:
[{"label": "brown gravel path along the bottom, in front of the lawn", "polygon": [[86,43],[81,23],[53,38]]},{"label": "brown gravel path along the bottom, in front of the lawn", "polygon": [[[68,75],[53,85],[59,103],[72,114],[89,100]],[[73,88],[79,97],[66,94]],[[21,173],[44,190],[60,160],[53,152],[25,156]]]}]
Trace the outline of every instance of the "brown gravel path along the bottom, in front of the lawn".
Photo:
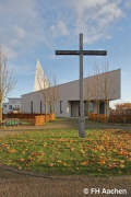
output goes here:
[{"label": "brown gravel path along the bottom, in front of the lawn", "polygon": [[[84,194],[83,189],[85,189]],[[99,195],[91,194],[98,188]],[[122,189],[122,195],[103,194],[104,189]],[[115,190],[112,190],[115,192]],[[0,167],[0,197],[131,197],[131,176],[47,176],[40,173]]]}]

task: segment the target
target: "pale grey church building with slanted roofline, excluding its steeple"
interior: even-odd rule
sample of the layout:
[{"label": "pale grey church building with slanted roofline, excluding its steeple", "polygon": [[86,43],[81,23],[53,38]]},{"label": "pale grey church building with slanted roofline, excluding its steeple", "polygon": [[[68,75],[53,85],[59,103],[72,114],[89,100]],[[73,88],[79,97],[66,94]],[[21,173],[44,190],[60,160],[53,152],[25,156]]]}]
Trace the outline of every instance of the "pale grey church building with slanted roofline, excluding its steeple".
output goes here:
[{"label": "pale grey church building with slanted roofline, excluding its steeple", "polygon": [[[84,103],[85,115],[87,115],[86,101],[91,101],[91,112],[97,113],[97,101],[99,103],[99,114],[105,114],[105,100],[109,101],[120,99],[120,78],[121,70],[112,70],[106,73],[88,77],[84,80]],[[53,86],[51,88],[53,89]],[[80,116],[80,81],[72,81],[56,86],[59,93],[59,100],[56,104],[57,117],[76,117]],[[46,88],[45,93],[48,92]],[[22,113],[44,113],[45,105],[40,90],[22,95]],[[47,113],[49,113],[47,104]]]}]

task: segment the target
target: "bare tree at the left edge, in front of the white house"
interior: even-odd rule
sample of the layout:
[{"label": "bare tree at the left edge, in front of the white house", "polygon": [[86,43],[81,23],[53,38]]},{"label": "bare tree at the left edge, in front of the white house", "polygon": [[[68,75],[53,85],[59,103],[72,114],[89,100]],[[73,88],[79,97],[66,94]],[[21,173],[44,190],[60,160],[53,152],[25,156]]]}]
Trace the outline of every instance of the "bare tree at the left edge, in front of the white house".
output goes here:
[{"label": "bare tree at the left edge, in front of the white house", "polygon": [[8,94],[14,89],[16,80],[13,77],[13,70],[7,66],[7,57],[0,46],[0,123],[2,121],[2,102]]}]

